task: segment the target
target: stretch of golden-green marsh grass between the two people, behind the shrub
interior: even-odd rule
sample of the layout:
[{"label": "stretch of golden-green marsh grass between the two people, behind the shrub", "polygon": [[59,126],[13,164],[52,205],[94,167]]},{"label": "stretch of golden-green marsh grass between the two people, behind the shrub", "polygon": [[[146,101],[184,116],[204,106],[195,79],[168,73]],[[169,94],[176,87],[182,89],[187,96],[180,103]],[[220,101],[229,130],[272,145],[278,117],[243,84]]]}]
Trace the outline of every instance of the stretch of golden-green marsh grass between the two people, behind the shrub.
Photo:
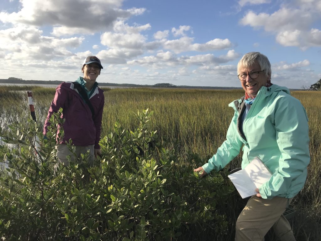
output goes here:
[{"label": "stretch of golden-green marsh grass between the two people, behind the shrub", "polygon": [[228,103],[233,91],[184,89],[113,89],[105,94],[104,129],[119,120],[128,128],[137,125],[134,112],[149,108],[154,111],[152,128],[161,138],[178,140],[182,150],[201,155],[213,152],[226,132],[233,110]]}]

